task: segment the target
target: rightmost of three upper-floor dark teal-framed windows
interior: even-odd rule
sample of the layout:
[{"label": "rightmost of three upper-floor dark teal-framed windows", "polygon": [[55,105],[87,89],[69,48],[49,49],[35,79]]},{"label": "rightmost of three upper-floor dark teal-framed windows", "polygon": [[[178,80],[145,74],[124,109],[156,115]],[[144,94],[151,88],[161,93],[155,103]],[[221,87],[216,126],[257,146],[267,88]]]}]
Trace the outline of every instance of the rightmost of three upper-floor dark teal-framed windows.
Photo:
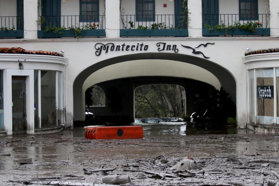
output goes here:
[{"label": "rightmost of three upper-floor dark teal-framed windows", "polygon": [[239,0],[239,19],[258,19],[258,0]]}]

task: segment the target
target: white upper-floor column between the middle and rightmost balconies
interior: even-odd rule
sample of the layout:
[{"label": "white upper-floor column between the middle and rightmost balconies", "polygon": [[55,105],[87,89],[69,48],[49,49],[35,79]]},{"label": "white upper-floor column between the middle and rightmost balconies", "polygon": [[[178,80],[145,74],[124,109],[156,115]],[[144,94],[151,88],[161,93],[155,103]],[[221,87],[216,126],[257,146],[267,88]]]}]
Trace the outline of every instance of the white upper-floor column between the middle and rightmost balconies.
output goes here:
[{"label": "white upper-floor column between the middle and rightmost balconies", "polygon": [[203,37],[202,0],[188,0],[188,35]]}]

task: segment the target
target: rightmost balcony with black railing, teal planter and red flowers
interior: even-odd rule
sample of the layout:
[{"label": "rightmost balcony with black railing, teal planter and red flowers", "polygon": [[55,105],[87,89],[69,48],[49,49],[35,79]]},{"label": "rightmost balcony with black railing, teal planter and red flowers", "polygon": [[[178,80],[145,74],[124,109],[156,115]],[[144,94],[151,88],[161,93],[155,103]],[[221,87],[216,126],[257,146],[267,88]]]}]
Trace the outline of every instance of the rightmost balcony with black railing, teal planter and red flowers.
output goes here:
[{"label": "rightmost balcony with black railing, teal planter and red flowers", "polygon": [[203,15],[203,36],[269,36],[269,14]]}]

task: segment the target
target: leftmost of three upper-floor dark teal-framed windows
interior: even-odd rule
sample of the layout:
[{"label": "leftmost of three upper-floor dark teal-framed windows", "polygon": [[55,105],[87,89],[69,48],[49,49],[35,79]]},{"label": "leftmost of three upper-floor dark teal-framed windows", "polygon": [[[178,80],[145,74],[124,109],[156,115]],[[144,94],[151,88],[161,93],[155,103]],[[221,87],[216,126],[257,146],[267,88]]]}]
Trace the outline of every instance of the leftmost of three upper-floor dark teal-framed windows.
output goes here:
[{"label": "leftmost of three upper-floor dark teal-framed windows", "polygon": [[80,0],[80,21],[99,22],[99,0]]}]

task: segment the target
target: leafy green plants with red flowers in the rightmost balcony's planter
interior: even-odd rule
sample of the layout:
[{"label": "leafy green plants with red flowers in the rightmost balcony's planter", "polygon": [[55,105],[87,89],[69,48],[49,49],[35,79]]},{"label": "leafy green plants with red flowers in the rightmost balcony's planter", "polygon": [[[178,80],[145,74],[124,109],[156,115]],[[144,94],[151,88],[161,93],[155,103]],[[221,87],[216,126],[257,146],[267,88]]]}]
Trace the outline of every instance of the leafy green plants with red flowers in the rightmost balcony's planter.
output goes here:
[{"label": "leafy green plants with red flowers in the rightmost balcony's planter", "polygon": [[262,28],[262,22],[252,22],[248,21],[247,23],[241,24],[240,22],[234,22],[233,25],[226,25],[221,21],[221,24],[217,24],[215,26],[210,26],[208,24],[204,24],[204,28],[209,28],[209,31],[212,32],[214,29],[219,31],[226,31],[226,35],[228,35],[228,30],[233,30],[238,28],[240,30],[247,30],[250,32],[256,32],[255,28]]}]

